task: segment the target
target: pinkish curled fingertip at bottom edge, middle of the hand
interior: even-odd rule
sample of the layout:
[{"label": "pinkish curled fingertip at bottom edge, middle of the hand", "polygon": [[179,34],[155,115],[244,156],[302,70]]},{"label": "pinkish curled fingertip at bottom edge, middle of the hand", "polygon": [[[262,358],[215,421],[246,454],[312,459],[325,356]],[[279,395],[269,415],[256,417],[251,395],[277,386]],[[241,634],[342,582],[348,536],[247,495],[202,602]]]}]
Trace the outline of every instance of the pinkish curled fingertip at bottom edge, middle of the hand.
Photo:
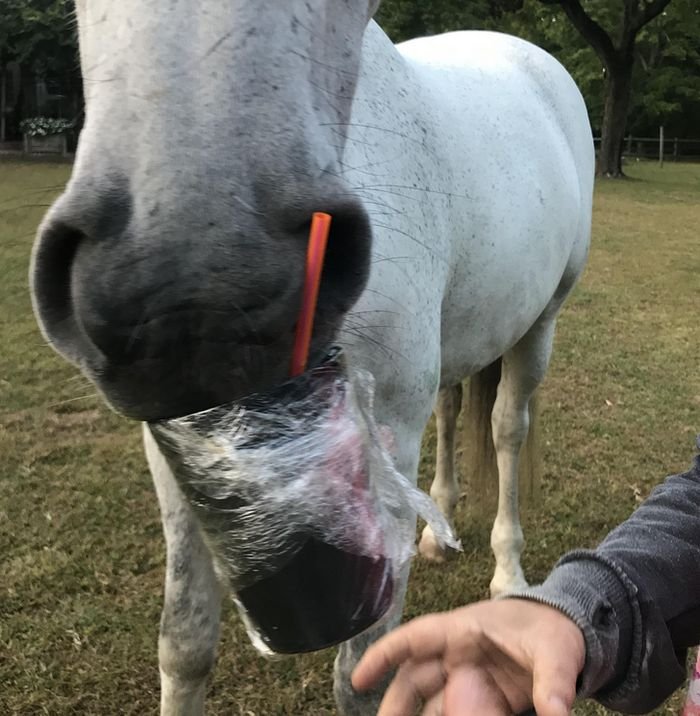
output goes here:
[{"label": "pinkish curled fingertip at bottom edge, middle of the hand", "polygon": [[440,716],[513,716],[503,691],[484,669],[458,666],[450,671]]}]

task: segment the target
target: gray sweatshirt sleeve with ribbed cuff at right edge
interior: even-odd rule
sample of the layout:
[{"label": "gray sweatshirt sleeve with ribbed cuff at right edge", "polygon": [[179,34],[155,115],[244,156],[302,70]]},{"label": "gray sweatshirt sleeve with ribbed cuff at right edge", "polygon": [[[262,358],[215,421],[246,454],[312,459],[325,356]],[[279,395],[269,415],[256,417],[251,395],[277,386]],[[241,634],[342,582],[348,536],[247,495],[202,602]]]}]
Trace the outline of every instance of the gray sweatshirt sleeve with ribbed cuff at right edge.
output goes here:
[{"label": "gray sweatshirt sleeve with ribbed cuff at right edge", "polygon": [[566,555],[542,585],[508,596],[554,606],[581,628],[581,696],[623,713],[658,706],[700,644],[700,456],[596,550]]}]

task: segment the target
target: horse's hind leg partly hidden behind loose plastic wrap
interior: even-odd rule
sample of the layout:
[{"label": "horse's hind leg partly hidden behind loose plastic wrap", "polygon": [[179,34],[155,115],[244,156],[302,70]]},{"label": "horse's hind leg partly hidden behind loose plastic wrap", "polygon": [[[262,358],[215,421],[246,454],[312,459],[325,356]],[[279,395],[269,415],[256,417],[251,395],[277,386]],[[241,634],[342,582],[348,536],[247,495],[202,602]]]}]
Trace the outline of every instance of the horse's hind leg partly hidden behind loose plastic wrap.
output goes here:
[{"label": "horse's hind leg partly hidden behind loose plastic wrap", "polygon": [[[459,485],[455,471],[455,433],[461,408],[461,383],[440,390],[435,406],[437,464],[435,479],[430,487],[430,496],[450,524],[459,499]],[[445,559],[445,549],[440,546],[429,525],[423,529],[418,551],[426,559],[435,562],[442,562]]]}]

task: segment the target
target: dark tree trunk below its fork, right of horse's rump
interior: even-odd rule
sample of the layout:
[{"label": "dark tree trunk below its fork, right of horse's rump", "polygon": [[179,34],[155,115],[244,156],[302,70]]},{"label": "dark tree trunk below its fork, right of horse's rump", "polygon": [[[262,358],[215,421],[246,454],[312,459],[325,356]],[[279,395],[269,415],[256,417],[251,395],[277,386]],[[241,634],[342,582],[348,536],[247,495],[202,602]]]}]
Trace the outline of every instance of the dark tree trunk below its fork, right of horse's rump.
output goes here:
[{"label": "dark tree trunk below its fork, right of horse's rump", "polygon": [[634,56],[608,67],[605,86],[605,109],[601,129],[598,174],[622,177],[622,147],[625,141],[627,112],[632,96]]}]

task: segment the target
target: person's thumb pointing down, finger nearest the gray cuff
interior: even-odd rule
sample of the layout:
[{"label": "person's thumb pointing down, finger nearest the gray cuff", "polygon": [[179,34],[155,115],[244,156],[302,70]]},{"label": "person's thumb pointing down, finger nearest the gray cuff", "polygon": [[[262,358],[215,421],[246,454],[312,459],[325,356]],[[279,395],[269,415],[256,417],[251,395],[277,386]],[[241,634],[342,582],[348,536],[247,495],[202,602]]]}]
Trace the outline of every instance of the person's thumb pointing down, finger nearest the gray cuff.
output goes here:
[{"label": "person's thumb pointing down, finger nearest the gray cuff", "polygon": [[538,716],[569,716],[582,664],[576,655],[558,651],[535,654],[532,700]]}]

